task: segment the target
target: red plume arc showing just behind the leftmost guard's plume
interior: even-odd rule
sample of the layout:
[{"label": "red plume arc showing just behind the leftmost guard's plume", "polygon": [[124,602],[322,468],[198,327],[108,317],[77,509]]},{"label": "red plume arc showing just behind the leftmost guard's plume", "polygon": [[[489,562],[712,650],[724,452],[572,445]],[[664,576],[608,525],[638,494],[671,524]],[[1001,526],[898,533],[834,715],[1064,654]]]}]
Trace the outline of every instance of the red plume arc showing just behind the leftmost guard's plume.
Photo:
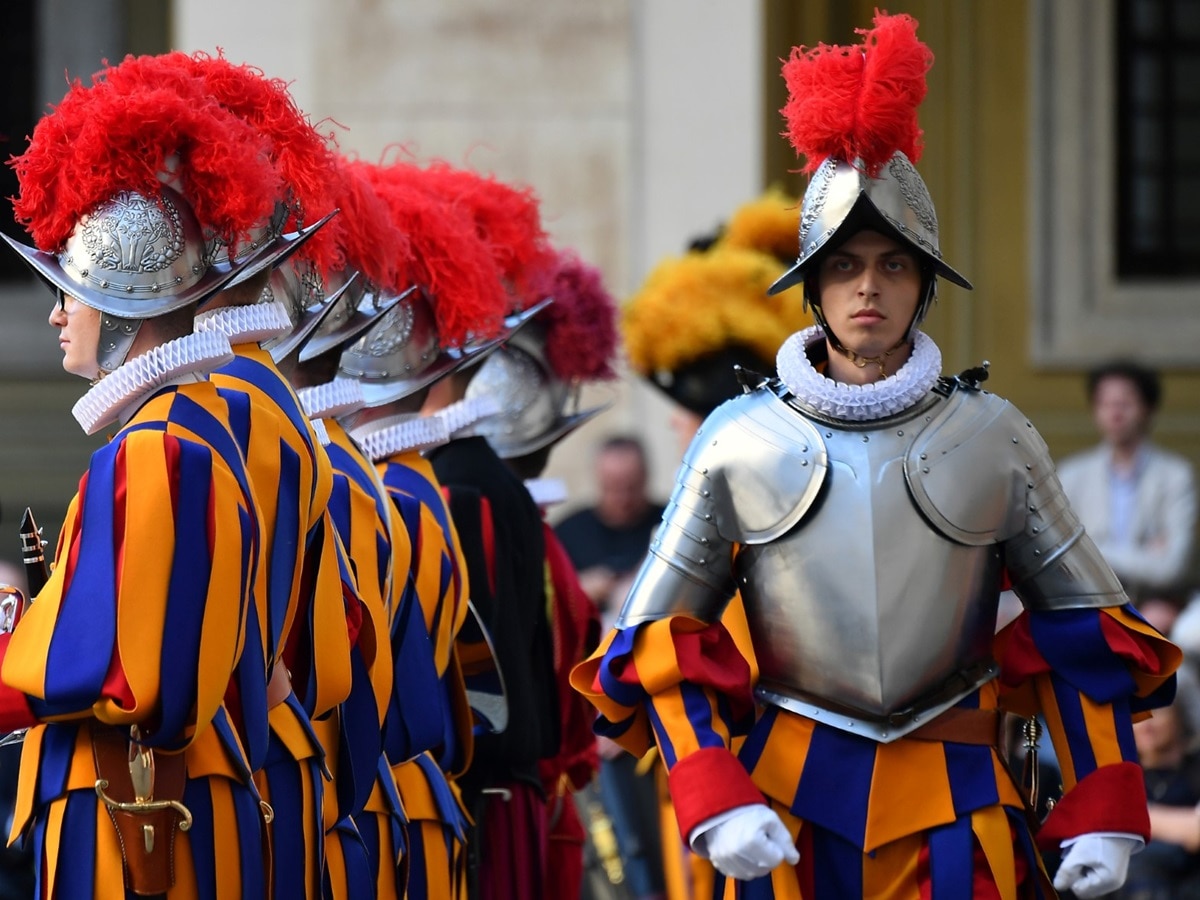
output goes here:
[{"label": "red plume arc showing just behind the leftmost guard's plume", "polygon": [[[287,83],[269,78],[260,68],[235,65],[220,54],[188,55],[179,50],[157,56],[127,56],[104,73],[109,80],[134,85],[170,86],[186,96],[209,96],[245,119],[269,142],[271,163],[278,170],[292,205],[284,230],[311,224],[335,209],[336,157],[300,110]],[[341,224],[335,217],[305,242],[300,254],[320,271],[342,268],[338,258]]]}]

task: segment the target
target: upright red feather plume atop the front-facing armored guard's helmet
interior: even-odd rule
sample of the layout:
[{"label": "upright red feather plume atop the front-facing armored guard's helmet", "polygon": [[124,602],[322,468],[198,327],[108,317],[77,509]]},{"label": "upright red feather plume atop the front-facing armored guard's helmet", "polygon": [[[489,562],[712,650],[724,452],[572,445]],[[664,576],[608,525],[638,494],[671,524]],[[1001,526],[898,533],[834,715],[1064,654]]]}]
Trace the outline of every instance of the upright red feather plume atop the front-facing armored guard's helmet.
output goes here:
[{"label": "upright red feather plume atop the front-facing armored guard's helmet", "polygon": [[829,156],[862,160],[872,178],[896,150],[913,163],[920,158],[917,108],[934,54],[918,40],[917,20],[876,12],[875,26],[857,34],[860,46],[794,47],[784,64],[781,112],[806,173]]}]

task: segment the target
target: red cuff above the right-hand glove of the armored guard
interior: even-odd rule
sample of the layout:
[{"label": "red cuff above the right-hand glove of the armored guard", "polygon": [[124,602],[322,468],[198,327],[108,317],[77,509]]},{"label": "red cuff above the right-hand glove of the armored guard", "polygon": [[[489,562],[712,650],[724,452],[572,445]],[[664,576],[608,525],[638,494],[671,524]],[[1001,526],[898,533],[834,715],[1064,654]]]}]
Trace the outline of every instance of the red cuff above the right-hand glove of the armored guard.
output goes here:
[{"label": "red cuff above the right-hand glove of the armored guard", "polygon": [[1043,850],[1092,832],[1123,832],[1150,840],[1146,781],[1141,766],[1120,762],[1084,778],[1046,816],[1038,830]]}]

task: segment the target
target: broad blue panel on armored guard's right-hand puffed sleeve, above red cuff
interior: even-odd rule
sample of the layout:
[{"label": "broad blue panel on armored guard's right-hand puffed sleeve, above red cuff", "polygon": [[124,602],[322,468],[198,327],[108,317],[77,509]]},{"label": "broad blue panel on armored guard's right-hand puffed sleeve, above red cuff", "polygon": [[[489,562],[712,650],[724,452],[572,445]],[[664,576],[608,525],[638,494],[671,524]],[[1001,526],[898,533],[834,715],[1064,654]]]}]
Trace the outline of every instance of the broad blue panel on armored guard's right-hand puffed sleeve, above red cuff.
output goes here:
[{"label": "broad blue panel on armored guard's right-hand puffed sleeve, above red cuff", "polygon": [[1030,612],[1030,634],[1038,653],[1057,677],[1097,703],[1128,697],[1136,691],[1128,664],[1104,640],[1103,616],[1100,610]]}]

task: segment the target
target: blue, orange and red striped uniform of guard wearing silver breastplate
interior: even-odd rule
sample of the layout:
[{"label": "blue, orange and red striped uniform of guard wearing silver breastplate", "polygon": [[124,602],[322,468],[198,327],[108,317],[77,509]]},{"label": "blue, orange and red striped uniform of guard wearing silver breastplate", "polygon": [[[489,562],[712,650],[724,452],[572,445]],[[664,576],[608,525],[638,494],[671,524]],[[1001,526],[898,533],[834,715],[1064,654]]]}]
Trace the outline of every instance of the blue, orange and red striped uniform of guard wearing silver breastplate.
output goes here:
[{"label": "blue, orange and red striped uniform of guard wearing silver breastplate", "polygon": [[[959,706],[1045,716],[1066,793],[1038,841],[1148,834],[1132,720],[1164,701],[1178,650],[1124,606],[1027,611],[996,659],[1001,676]],[[995,746],[880,744],[756,707],[750,683],[728,631],[684,616],[612,632],[572,673],[601,733],[638,754],[658,745],[683,835],[763,798],[791,829],[797,866],[718,876],[718,896],[1054,896]]]}]

